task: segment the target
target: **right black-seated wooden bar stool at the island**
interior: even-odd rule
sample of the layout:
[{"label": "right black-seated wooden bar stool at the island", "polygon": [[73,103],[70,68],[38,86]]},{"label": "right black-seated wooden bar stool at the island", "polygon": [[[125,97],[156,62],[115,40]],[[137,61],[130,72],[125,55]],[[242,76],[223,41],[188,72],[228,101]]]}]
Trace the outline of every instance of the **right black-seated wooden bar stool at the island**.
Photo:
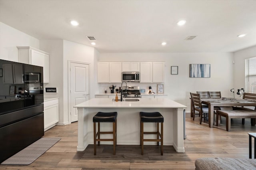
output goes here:
[{"label": "right black-seated wooden bar stool at the island", "polygon": [[[143,123],[157,123],[157,132],[144,132],[144,124]],[[159,132],[159,123],[161,123],[161,133]],[[141,154],[144,154],[144,141],[148,142],[157,142],[157,146],[159,146],[159,142],[161,142],[161,155],[163,155],[163,131],[164,131],[164,117],[159,112],[146,113],[140,112],[140,145],[141,145]],[[144,139],[144,134],[156,134],[156,139]],[[159,139],[160,136],[160,139]]]}]

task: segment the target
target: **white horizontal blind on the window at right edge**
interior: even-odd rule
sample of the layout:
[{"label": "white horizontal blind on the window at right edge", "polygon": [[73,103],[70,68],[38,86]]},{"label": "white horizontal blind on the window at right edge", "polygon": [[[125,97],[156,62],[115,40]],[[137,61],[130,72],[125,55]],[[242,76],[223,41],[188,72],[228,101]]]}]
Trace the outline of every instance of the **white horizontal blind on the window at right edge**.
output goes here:
[{"label": "white horizontal blind on the window at right edge", "polygon": [[245,92],[256,93],[256,57],[245,59]]}]

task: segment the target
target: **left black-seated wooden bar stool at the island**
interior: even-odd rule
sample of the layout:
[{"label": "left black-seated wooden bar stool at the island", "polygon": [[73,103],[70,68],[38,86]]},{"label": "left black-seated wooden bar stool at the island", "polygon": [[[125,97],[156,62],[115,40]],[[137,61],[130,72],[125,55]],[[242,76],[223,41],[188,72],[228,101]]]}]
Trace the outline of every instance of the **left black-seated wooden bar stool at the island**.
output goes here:
[{"label": "left black-seated wooden bar stool at the island", "polygon": [[[100,146],[100,141],[113,141],[113,154],[116,154],[116,117],[117,112],[104,113],[98,112],[93,117],[93,136],[94,136],[94,155],[96,155],[96,141],[98,141],[98,146]],[[98,123],[98,131],[96,133],[96,122]],[[100,132],[100,123],[101,122],[112,122],[113,123],[113,131],[111,132]],[[113,134],[112,139],[101,139],[100,134]],[[96,139],[98,136],[98,139]]]}]

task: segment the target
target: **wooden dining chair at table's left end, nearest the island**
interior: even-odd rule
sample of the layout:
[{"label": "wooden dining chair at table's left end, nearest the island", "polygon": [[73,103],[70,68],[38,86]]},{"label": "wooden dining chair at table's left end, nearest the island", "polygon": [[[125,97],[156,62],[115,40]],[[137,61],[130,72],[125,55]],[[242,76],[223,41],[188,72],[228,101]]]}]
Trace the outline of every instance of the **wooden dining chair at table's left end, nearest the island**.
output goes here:
[{"label": "wooden dining chair at table's left end, nearest the island", "polygon": [[193,102],[193,107],[194,107],[193,121],[195,119],[195,112],[198,111],[200,115],[200,124],[202,124],[202,119],[206,118],[208,115],[208,107],[202,107],[200,94],[190,93],[190,96],[191,96],[191,100]]}]

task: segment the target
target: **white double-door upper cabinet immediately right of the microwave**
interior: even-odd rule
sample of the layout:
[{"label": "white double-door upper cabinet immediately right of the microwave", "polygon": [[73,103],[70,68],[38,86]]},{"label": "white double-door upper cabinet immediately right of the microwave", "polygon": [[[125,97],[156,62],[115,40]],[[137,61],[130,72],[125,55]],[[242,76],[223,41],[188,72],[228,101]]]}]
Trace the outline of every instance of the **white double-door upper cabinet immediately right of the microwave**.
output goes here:
[{"label": "white double-door upper cabinet immediately right of the microwave", "polygon": [[140,62],[140,83],[164,82],[164,62]]}]

